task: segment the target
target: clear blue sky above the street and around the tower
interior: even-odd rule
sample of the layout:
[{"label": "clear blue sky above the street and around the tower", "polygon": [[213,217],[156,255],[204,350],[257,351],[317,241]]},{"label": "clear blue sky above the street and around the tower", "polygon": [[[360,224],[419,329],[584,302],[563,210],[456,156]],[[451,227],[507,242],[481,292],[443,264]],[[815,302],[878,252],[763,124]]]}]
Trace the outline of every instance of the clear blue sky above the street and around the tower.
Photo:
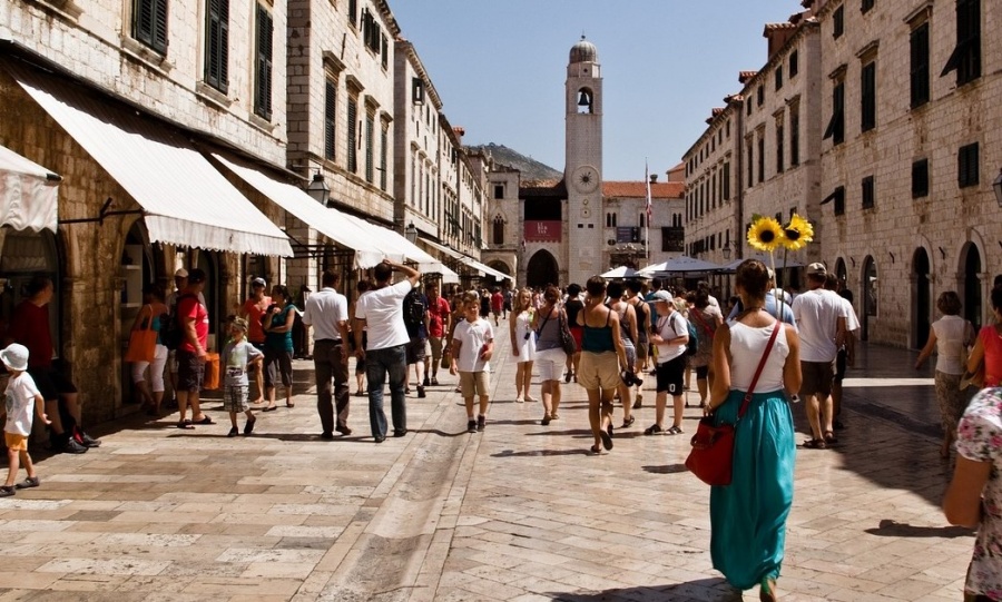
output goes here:
[{"label": "clear blue sky above the street and around the tower", "polygon": [[598,48],[607,180],[664,172],[713,107],[766,62],[766,22],[798,0],[391,0],[464,142],[495,142],[563,169],[570,48]]}]

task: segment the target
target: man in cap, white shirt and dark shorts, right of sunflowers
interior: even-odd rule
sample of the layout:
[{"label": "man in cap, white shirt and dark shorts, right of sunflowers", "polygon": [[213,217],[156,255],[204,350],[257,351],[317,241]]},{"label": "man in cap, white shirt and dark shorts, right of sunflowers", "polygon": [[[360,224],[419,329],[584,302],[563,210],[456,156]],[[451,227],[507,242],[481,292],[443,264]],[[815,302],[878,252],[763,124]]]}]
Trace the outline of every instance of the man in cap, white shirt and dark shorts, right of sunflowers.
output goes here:
[{"label": "man in cap, white shirt and dark shorts, right of sunflowers", "polygon": [[824,450],[835,440],[832,431],[832,383],[835,356],[845,344],[845,306],[838,295],[825,290],[827,273],[824,264],[807,266],[807,292],[798,295],[793,303],[794,319],[800,335],[800,372],[804,375],[800,397],[807,403],[812,433],[804,447],[815,450]]}]

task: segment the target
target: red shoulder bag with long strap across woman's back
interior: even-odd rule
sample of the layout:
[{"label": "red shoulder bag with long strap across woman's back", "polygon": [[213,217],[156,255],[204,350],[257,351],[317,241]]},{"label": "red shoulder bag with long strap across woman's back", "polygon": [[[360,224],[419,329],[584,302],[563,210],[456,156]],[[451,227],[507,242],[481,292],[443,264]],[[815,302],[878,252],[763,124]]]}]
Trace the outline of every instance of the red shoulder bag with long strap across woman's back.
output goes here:
[{"label": "red shoulder bag with long strap across woman's back", "polygon": [[[752,394],[755,392],[755,385],[758,383],[758,376],[762,368],[765,367],[769,352],[773,351],[773,343],[776,341],[776,334],[783,325],[776,320],[773,327],[773,334],[766,344],[762,359],[758,362],[758,368],[752,378],[752,385],[745,393],[745,399],[741,402],[741,408],[738,411],[737,420],[740,421],[745,412],[748,411],[748,404],[752,403]],[[692,451],[686,458],[686,467],[696,475],[697,478],[707,485],[729,485],[731,480],[731,471],[734,467],[734,432],[736,424],[721,424],[714,426],[714,415],[704,416],[696,427],[696,434],[692,435]]]}]

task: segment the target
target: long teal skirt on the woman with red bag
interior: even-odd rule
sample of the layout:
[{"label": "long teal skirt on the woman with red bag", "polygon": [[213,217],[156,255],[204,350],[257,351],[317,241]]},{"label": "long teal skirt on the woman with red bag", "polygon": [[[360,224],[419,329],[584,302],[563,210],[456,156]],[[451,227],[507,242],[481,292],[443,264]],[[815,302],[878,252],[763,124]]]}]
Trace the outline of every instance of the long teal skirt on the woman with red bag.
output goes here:
[{"label": "long teal skirt on the woman with red bag", "polygon": [[[743,391],[730,392],[714,414],[718,425],[735,423],[744,396]],[[733,481],[710,487],[710,556],[714,569],[735,588],[747,590],[779,576],[795,457],[786,395],[754,394],[735,432]]]}]

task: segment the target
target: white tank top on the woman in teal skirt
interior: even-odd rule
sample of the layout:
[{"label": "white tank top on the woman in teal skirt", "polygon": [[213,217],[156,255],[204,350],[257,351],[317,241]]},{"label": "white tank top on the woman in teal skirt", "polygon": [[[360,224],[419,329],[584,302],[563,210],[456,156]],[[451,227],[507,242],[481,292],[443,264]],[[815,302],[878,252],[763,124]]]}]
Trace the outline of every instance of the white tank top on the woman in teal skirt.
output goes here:
[{"label": "white tank top on the woman in teal skirt", "polygon": [[[730,388],[748,391],[752,378],[755,376],[755,369],[758,368],[758,363],[762,361],[762,353],[773,334],[773,326],[753,328],[739,322],[728,322],[728,325],[730,326],[731,356]],[[782,327],[782,324],[777,326]],[[769,352],[769,358],[762,368],[762,375],[759,375],[753,393],[766,393],[783,388],[783,365],[786,364],[787,355],[789,355],[789,344],[786,342],[786,329],[784,328],[776,334],[773,351]]]}]

